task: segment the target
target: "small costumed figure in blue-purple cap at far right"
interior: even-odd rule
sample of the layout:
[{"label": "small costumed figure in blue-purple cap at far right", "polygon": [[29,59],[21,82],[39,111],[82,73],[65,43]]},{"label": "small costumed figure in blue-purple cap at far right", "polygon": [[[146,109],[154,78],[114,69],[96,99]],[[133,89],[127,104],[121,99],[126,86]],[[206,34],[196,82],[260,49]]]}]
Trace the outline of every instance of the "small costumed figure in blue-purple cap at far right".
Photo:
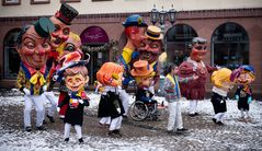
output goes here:
[{"label": "small costumed figure in blue-purple cap at far right", "polygon": [[[237,78],[238,89],[235,97],[238,101],[238,109],[241,113],[241,121],[251,121],[249,116],[249,104],[252,102],[251,82],[254,81],[254,68],[249,65],[241,66],[239,69],[239,76]],[[244,116],[246,113],[246,116]]]}]

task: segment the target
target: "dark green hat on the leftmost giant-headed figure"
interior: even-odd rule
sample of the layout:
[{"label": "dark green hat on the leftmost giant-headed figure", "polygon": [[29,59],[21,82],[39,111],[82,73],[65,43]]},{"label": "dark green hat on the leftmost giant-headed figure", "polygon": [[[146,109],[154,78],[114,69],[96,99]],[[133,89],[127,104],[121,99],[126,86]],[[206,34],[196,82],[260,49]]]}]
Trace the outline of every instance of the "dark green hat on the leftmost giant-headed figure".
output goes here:
[{"label": "dark green hat on the leftmost giant-headed figure", "polygon": [[35,32],[41,37],[48,37],[55,31],[55,25],[47,18],[41,18],[34,23]]}]

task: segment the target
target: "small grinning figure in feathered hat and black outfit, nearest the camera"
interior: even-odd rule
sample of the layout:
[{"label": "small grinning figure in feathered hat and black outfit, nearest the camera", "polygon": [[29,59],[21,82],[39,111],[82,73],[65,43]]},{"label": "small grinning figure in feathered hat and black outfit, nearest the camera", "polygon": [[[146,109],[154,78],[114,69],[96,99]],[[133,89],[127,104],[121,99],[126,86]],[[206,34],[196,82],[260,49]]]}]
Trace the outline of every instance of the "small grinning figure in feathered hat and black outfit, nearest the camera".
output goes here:
[{"label": "small grinning figure in feathered hat and black outfit, nearest the camera", "polygon": [[58,104],[57,111],[60,111],[65,104],[68,104],[65,115],[65,141],[69,141],[70,128],[75,126],[78,135],[79,143],[83,143],[82,139],[82,123],[83,108],[89,106],[89,97],[84,92],[84,85],[89,81],[88,68],[86,65],[88,60],[80,60],[81,55],[78,51],[69,53],[64,56],[62,68],[58,70],[58,74],[62,74],[65,83],[68,89],[68,95],[64,102]]}]

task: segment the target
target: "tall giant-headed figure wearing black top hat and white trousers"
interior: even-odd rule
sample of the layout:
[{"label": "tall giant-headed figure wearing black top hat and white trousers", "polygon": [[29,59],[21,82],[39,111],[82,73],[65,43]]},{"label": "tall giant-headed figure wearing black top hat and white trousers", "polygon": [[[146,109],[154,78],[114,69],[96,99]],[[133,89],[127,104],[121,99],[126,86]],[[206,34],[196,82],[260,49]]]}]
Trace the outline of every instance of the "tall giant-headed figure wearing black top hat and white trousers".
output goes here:
[{"label": "tall giant-headed figure wearing black top hat and white trousers", "polygon": [[[55,72],[60,68],[60,65],[58,63],[59,57],[61,57],[62,54],[62,48],[65,47],[66,40],[71,37],[73,38],[73,33],[70,34],[70,25],[71,21],[78,15],[78,11],[70,7],[67,3],[61,3],[59,11],[56,12],[55,15],[50,16],[52,22],[55,24],[55,31],[52,33],[52,39],[50,39],[50,46],[52,46],[52,51],[49,53],[48,60],[47,60],[47,70],[49,71],[48,76],[48,89],[47,92],[45,92],[46,98],[50,102],[52,107],[49,107],[48,113],[47,113],[47,118],[52,121],[55,123],[55,119],[53,117],[54,111],[57,106],[57,97],[55,96],[53,90],[55,81],[53,80],[53,76]],[[68,42],[69,43],[69,42]],[[67,43],[67,44],[68,44]],[[79,42],[77,42],[79,43]],[[81,42],[80,42],[81,43]],[[64,46],[61,46],[64,44]],[[76,44],[76,43],[75,43]],[[77,44],[78,45],[78,44]],[[62,47],[59,50],[57,50],[58,47]],[[67,49],[70,49],[68,47]],[[67,93],[60,93],[59,94],[59,103],[61,100],[64,100],[65,94]],[[65,105],[66,107],[66,105]],[[64,117],[65,116],[66,108],[60,109],[60,115]]]}]

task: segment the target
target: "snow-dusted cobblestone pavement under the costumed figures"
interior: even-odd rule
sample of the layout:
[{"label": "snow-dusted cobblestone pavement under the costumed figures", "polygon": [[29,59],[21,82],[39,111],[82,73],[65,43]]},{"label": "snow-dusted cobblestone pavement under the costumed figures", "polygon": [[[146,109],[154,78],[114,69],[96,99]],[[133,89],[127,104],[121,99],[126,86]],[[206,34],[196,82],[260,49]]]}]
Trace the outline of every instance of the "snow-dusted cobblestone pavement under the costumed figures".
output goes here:
[{"label": "snow-dusted cobblestone pavement under the costumed figures", "polygon": [[[4,101],[1,98],[0,101]],[[261,104],[260,104],[261,105]],[[260,106],[260,108],[262,105]],[[0,149],[25,150],[31,148],[31,141],[23,139],[34,139],[42,137],[43,143],[37,143],[33,149],[48,150],[70,150],[76,143],[62,143],[62,121],[56,115],[56,123],[47,123],[46,131],[24,132],[23,131],[23,106],[1,105],[0,106]],[[236,118],[228,118],[225,126],[215,125],[212,115],[201,113],[195,117],[190,117],[183,113],[184,127],[189,128],[186,135],[168,135],[167,111],[162,111],[161,120],[134,121],[128,117],[124,119],[122,133],[124,137],[112,139],[106,128],[98,127],[96,109],[86,109],[83,136],[87,146],[82,149],[91,150],[262,150],[262,125],[260,121],[241,123]],[[35,112],[32,112],[35,117]],[[34,120],[32,119],[34,126]],[[50,135],[52,133],[52,135]],[[71,130],[75,135],[75,130]],[[10,137],[12,136],[12,137]],[[113,140],[113,142],[111,142]],[[22,144],[27,143],[27,144]],[[116,143],[124,141],[123,143]],[[111,143],[107,143],[111,142]],[[126,143],[129,142],[129,143]],[[98,144],[99,143],[99,144]],[[145,144],[145,146],[144,146]],[[32,149],[32,148],[31,148]]]}]

